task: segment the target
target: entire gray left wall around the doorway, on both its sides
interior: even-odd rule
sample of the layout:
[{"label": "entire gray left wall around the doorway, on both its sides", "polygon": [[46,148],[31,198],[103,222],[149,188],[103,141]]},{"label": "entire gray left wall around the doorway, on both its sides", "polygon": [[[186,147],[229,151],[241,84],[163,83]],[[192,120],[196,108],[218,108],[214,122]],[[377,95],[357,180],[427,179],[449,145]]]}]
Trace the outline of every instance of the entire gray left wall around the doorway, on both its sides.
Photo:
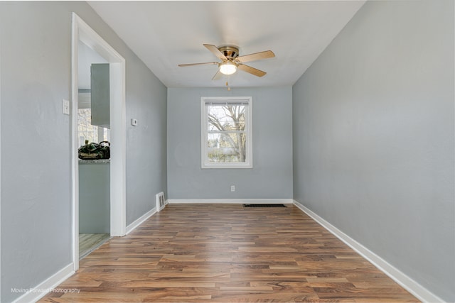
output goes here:
[{"label": "entire gray left wall around the doorway, on both its sides", "polygon": [[166,87],[85,2],[1,1],[1,302],[72,262],[72,11],[127,61],[127,224],[166,190]]}]

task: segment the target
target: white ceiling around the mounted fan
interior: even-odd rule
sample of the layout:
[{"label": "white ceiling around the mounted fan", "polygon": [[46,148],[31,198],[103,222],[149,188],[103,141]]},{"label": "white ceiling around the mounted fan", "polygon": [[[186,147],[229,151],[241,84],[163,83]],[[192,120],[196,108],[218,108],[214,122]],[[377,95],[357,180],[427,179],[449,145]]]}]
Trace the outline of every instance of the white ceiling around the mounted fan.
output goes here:
[{"label": "white ceiling around the mounted fan", "polygon": [[272,50],[248,62],[267,75],[238,71],[232,87],[294,84],[365,1],[89,1],[166,87],[223,87],[218,62],[203,43],[237,45],[240,55]]}]

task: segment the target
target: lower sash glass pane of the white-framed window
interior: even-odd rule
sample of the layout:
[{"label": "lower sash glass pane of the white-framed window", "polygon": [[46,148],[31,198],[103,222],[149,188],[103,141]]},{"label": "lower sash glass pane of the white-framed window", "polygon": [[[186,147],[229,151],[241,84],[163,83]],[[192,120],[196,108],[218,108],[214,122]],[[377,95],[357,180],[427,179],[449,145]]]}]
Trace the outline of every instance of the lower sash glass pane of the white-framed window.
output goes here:
[{"label": "lower sash glass pane of the white-framed window", "polygon": [[208,162],[245,162],[246,133],[209,133]]}]

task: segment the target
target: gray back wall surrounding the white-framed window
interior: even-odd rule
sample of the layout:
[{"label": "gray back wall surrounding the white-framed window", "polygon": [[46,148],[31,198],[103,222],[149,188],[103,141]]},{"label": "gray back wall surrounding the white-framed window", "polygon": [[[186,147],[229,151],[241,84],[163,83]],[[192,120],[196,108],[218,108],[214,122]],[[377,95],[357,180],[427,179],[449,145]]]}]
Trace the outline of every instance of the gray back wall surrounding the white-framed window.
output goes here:
[{"label": "gray back wall surrounding the white-framed window", "polygon": [[[253,168],[200,168],[200,97],[252,97]],[[291,87],[168,89],[170,199],[291,199]],[[230,192],[235,185],[235,192]]]}]

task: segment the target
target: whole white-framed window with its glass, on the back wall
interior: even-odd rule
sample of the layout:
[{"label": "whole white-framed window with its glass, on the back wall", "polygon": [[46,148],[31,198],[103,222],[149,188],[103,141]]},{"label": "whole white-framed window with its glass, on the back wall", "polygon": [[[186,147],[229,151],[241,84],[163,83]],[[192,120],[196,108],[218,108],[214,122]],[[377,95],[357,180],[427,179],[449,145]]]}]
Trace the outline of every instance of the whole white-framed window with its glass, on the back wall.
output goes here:
[{"label": "whole white-framed window with its glass, on the back wall", "polygon": [[202,97],[203,168],[252,167],[252,98]]}]

